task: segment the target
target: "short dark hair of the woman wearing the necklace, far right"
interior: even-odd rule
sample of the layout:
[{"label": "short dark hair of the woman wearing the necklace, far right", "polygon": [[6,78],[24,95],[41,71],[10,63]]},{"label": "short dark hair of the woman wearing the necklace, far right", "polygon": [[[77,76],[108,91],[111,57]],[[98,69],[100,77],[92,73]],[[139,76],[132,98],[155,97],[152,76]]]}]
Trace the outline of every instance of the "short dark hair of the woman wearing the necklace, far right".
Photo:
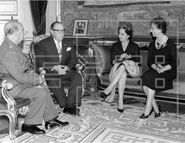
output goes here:
[{"label": "short dark hair of the woman wearing the necklace, far right", "polygon": [[156,25],[158,29],[162,31],[162,33],[166,34],[167,30],[167,22],[162,17],[156,17],[151,22],[150,25]]}]

